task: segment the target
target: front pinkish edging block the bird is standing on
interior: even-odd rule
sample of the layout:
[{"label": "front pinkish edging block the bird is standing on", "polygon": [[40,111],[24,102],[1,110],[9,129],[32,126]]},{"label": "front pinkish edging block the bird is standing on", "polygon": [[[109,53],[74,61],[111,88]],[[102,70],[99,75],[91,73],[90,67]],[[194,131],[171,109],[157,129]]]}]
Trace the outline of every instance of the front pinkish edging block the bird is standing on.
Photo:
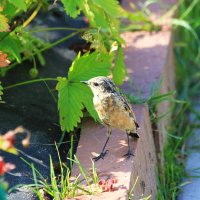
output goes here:
[{"label": "front pinkish edging block the bird is standing on", "polygon": [[[151,130],[150,118],[147,106],[134,106],[137,121],[140,124],[139,134],[141,137],[137,141],[131,142],[131,147],[135,152],[135,156],[127,160],[123,155],[127,152],[127,137],[124,132],[114,130],[109,140],[107,149],[108,154],[104,160],[95,163],[97,173],[101,178],[118,180],[116,187],[118,192],[126,191],[124,199],[127,199],[127,193],[133,186],[136,177],[139,176],[138,184],[136,184],[134,195],[152,195],[155,199],[156,191],[156,155],[153,142],[153,134]],[[78,145],[77,156],[81,164],[86,168],[92,167],[91,158],[100,153],[106,140],[106,129],[92,121],[86,121],[83,125],[81,138]],[[72,175],[78,175],[79,170],[75,165]],[[121,199],[118,192],[109,192],[107,199]],[[104,193],[101,194],[104,196]],[[102,199],[103,196],[95,196],[94,199]],[[91,199],[91,197],[88,197]]]}]

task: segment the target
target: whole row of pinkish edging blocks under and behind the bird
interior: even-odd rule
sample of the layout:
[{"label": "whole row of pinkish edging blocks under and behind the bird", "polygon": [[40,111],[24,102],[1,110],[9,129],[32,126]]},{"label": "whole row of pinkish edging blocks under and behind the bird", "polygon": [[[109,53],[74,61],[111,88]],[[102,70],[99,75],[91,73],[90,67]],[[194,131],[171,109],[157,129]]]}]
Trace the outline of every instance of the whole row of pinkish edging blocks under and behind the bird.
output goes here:
[{"label": "whole row of pinkish edging blocks under and behind the bird", "polygon": [[[126,41],[124,47],[125,63],[128,71],[127,81],[122,89],[126,93],[137,96],[138,91],[143,98],[150,96],[152,84],[159,84],[162,79],[161,92],[166,93],[174,89],[174,64],[172,54],[172,33],[162,31],[157,33],[149,32],[127,32],[122,37]],[[130,83],[133,81],[133,85]],[[126,161],[122,155],[126,153],[126,135],[119,130],[113,131],[113,136],[108,144],[109,153],[104,160],[96,164],[100,178],[115,177],[118,179],[118,186],[124,186],[127,193],[133,186],[136,177],[139,182],[136,184],[135,199],[144,194],[143,197],[156,194],[156,150],[162,151],[166,138],[166,126],[168,120],[160,121],[158,130],[153,135],[148,108],[133,106],[136,112],[137,121],[140,125],[141,138],[133,141],[132,148],[135,150],[135,157]],[[164,103],[158,107],[158,115],[168,111],[169,104]],[[170,119],[170,117],[169,117]],[[153,140],[155,138],[155,141]],[[100,125],[89,122],[83,126],[77,155],[86,169],[91,168],[90,157],[101,151],[106,140],[105,129]],[[154,143],[155,142],[155,143]],[[156,144],[156,145],[155,145]],[[94,155],[93,155],[94,156]],[[78,169],[73,168],[73,175],[77,175]],[[120,191],[122,190],[119,187]],[[102,196],[101,196],[102,195]],[[84,197],[85,199],[121,199],[117,192],[102,193],[100,196]],[[82,197],[80,197],[82,198]],[[122,198],[122,199],[123,199]]]}]

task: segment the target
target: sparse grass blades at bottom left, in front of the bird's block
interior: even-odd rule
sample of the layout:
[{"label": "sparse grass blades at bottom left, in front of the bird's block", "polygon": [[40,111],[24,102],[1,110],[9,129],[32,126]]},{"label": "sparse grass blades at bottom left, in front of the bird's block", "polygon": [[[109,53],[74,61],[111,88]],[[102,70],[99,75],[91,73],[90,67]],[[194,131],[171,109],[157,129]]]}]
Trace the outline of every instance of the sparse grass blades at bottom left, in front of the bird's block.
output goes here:
[{"label": "sparse grass blades at bottom left, in front of the bird's block", "polygon": [[[92,173],[88,173],[81,165],[78,158],[74,155],[71,159],[74,164],[77,164],[80,174],[77,177],[71,177],[70,169],[61,161],[58,147],[56,146],[60,174],[55,173],[52,158],[50,156],[50,180],[46,179],[32,163],[23,161],[32,169],[34,184],[21,185],[21,188],[31,189],[39,200],[44,200],[46,196],[52,197],[55,200],[63,200],[73,198],[79,195],[93,195],[101,192],[99,187],[99,178],[96,172],[94,162],[92,161]],[[86,184],[83,184],[85,182]]]}]

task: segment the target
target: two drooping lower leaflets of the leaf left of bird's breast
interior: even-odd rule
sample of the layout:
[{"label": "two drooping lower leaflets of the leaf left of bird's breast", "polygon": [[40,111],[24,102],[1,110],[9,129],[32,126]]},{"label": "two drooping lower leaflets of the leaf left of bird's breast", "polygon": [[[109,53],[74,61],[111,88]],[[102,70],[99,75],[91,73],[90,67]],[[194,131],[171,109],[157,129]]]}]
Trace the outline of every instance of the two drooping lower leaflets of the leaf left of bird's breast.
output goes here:
[{"label": "two drooping lower leaflets of the leaf left of bird's breast", "polygon": [[93,106],[93,94],[86,85],[70,83],[66,78],[58,78],[56,89],[62,131],[72,131],[80,123],[84,107],[96,121],[100,121]]}]

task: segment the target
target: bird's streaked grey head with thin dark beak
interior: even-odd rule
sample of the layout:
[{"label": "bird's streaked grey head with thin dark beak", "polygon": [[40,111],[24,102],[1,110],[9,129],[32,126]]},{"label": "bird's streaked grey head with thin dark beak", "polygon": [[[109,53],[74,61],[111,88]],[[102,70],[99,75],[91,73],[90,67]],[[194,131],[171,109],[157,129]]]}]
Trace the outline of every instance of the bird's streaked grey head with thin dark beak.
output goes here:
[{"label": "bird's streaked grey head with thin dark beak", "polygon": [[94,95],[99,95],[99,93],[113,93],[116,91],[115,84],[105,76],[97,76],[88,81],[81,82],[88,85]]}]

